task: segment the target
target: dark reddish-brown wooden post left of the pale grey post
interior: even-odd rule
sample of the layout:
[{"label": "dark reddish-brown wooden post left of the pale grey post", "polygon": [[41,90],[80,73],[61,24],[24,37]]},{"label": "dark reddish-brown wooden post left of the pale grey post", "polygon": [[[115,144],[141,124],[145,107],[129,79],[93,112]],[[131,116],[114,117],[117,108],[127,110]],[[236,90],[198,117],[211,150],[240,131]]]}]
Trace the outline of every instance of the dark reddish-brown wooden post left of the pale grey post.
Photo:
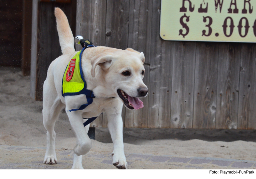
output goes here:
[{"label": "dark reddish-brown wooden post left of the pale grey post", "polygon": [[31,62],[32,0],[23,0],[22,20],[22,72],[30,75]]}]

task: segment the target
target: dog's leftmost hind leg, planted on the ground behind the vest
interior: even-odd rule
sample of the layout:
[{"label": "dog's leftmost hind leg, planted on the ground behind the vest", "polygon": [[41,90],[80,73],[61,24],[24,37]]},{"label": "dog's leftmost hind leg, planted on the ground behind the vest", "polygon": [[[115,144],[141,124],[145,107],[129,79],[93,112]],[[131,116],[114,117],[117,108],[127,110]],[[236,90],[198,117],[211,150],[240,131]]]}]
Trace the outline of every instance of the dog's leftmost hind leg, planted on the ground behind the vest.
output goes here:
[{"label": "dog's leftmost hind leg, planted on the ground behind the vest", "polygon": [[43,92],[43,123],[47,130],[47,147],[44,157],[44,163],[46,164],[57,164],[54,126],[60,110],[65,107],[54,90],[53,88],[44,87]]}]

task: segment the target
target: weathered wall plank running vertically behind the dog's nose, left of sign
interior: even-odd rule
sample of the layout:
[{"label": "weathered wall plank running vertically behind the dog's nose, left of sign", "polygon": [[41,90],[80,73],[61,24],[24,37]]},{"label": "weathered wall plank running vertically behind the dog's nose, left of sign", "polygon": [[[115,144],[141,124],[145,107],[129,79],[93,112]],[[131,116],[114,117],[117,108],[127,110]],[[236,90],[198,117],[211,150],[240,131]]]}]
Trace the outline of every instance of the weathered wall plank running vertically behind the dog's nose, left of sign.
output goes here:
[{"label": "weathered wall plank running vertically behind the dog's nose, left of sign", "polygon": [[[128,47],[143,52],[145,55],[144,66],[146,72],[143,81],[147,86],[149,85],[150,76],[152,2],[152,0],[130,0],[129,11]],[[141,98],[144,108],[140,110],[126,109],[125,127],[147,127],[148,96]]]}]

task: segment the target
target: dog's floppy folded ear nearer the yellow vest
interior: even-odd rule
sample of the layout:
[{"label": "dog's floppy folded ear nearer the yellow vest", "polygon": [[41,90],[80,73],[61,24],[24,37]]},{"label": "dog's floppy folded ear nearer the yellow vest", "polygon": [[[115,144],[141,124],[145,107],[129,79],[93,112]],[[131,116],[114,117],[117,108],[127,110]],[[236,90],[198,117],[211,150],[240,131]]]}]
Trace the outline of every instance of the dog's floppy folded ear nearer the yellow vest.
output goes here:
[{"label": "dog's floppy folded ear nearer the yellow vest", "polygon": [[112,64],[112,59],[113,59],[112,55],[105,55],[100,58],[96,58],[96,57],[92,58],[91,59],[91,66],[92,66],[91,76],[95,77],[95,69],[97,65],[99,65],[103,70],[109,69],[109,67]]}]

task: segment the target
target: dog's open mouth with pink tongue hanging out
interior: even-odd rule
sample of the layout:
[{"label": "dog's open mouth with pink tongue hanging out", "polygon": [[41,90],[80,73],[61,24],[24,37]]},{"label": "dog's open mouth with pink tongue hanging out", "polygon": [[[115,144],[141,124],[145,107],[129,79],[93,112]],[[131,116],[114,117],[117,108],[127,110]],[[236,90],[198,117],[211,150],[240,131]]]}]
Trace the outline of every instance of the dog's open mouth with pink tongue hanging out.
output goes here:
[{"label": "dog's open mouth with pink tongue hanging out", "polygon": [[123,90],[118,89],[117,94],[124,101],[128,109],[140,109],[144,107],[143,102],[139,98],[131,97]]}]

